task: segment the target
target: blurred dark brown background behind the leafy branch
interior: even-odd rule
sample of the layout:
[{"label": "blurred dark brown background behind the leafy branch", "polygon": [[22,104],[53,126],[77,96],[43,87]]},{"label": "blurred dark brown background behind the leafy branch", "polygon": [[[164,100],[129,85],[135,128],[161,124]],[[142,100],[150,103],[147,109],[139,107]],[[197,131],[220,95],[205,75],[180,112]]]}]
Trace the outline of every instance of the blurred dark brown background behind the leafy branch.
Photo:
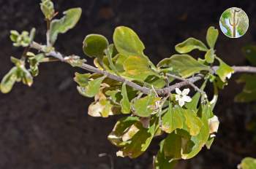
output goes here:
[{"label": "blurred dark brown background behind the leafy branch", "polygon": [[[56,0],[56,10],[81,7],[78,25],[60,35],[56,48],[63,53],[83,55],[84,36],[103,34],[111,41],[118,25],[133,28],[144,44],[146,55],[154,63],[174,54],[174,45],[194,36],[205,40],[207,28],[219,28],[219,17],[229,7],[241,7],[249,16],[249,30],[239,39],[229,39],[220,32],[217,54],[230,65],[245,65],[241,47],[256,41],[256,1],[168,1],[168,0]],[[39,0],[0,0],[0,77],[12,67],[10,56],[20,57],[22,49],[12,47],[10,29],[37,28],[37,42],[45,42],[45,22]],[[256,57],[256,56],[255,56]],[[88,59],[90,60],[90,59]],[[91,60],[89,61],[91,63]],[[82,70],[76,70],[83,72]],[[12,93],[0,93],[0,168],[108,169],[109,157],[115,168],[148,169],[158,146],[136,160],[116,157],[116,147],[107,140],[118,117],[108,119],[87,115],[91,100],[83,98],[72,82],[75,70],[67,64],[41,64],[32,87],[15,84]],[[233,103],[241,86],[234,76],[221,92],[215,113],[221,125],[211,150],[203,149],[197,157],[181,161],[178,168],[236,168],[243,157],[256,157],[253,133],[248,124],[256,117],[252,104]]]}]

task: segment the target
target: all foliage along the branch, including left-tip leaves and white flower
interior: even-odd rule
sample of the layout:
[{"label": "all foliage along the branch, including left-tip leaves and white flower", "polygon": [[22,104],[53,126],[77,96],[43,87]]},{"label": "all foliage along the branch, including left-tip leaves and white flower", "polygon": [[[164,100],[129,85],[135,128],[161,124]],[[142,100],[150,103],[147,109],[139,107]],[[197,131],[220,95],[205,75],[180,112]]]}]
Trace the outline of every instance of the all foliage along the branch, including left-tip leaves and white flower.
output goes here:
[{"label": "all foliage along the branch, including left-tip leaves and white flower", "polygon": [[[8,93],[15,82],[22,81],[29,86],[33,76],[39,73],[39,63],[48,62],[51,52],[55,52],[55,44],[59,34],[64,34],[73,28],[81,15],[80,8],[68,9],[61,19],[56,16],[53,2],[42,0],[40,4],[48,24],[46,34],[47,44],[40,46],[40,53],[29,52],[33,43],[34,31],[31,34],[18,34],[11,31],[11,39],[15,46],[26,47],[20,59],[11,58],[15,64],[1,81],[1,92]],[[34,30],[34,29],[33,29]],[[219,121],[214,116],[213,109],[217,102],[218,90],[227,84],[227,78],[233,74],[233,68],[217,57],[214,50],[218,30],[208,28],[207,45],[198,39],[189,38],[176,45],[179,54],[161,60],[157,66],[151,63],[144,54],[145,46],[135,31],[125,26],[119,26],[113,33],[113,43],[105,36],[90,34],[83,41],[83,52],[89,58],[94,58],[94,65],[102,72],[125,78],[125,82],[110,79],[104,74],[75,73],[78,92],[86,97],[94,98],[89,106],[92,117],[109,117],[114,114],[124,114],[116,122],[109,141],[119,147],[118,156],[135,158],[148,149],[154,137],[161,137],[159,152],[154,158],[154,168],[173,168],[179,159],[190,159],[200,152],[203,146],[210,149]],[[203,58],[193,58],[188,53],[192,50],[204,52]],[[82,67],[85,60],[78,56],[70,56],[65,62],[72,66]],[[29,68],[26,68],[29,63]],[[212,66],[217,65],[215,70]],[[175,75],[181,79],[192,76],[204,76],[204,82],[192,98],[176,89],[176,94],[159,95],[157,90],[176,83]],[[133,82],[150,89],[142,93],[127,85]],[[214,85],[214,97],[208,101],[203,92],[206,84]],[[184,103],[184,98],[187,103]]]}]

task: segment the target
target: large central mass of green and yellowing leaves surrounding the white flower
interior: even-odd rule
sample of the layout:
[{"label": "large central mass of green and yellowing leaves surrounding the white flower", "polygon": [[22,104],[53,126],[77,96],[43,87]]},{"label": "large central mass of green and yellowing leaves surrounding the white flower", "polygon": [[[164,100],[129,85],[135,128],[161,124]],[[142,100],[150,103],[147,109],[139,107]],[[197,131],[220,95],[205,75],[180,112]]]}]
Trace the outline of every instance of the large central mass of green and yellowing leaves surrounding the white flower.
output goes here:
[{"label": "large central mass of green and yellowing leaves surrounding the white flower", "polygon": [[[151,93],[145,95],[103,75],[75,74],[79,93],[95,98],[89,106],[91,116],[129,114],[119,119],[108,135],[110,142],[120,148],[118,156],[140,156],[152,139],[159,135],[165,138],[154,159],[155,168],[170,168],[178,159],[194,157],[203,146],[210,148],[214,141],[213,133],[217,132],[219,125],[218,120],[212,120],[217,89],[227,84],[227,77],[233,73],[233,68],[215,54],[214,45],[218,34],[214,27],[208,28],[208,47],[194,38],[177,44],[176,51],[180,54],[161,60],[157,66],[143,53],[145,46],[131,28],[116,28],[113,44],[99,34],[86,36],[83,51],[94,58],[97,68],[152,89]],[[205,58],[192,58],[187,54],[192,50],[205,52]],[[211,69],[215,60],[219,62],[216,71]],[[157,95],[155,89],[168,86],[173,81],[167,74],[176,74],[182,78],[203,74],[206,78],[201,90],[207,82],[212,82],[216,88],[214,99],[208,101],[206,95],[197,92],[191,102],[181,106],[175,95]]]}]

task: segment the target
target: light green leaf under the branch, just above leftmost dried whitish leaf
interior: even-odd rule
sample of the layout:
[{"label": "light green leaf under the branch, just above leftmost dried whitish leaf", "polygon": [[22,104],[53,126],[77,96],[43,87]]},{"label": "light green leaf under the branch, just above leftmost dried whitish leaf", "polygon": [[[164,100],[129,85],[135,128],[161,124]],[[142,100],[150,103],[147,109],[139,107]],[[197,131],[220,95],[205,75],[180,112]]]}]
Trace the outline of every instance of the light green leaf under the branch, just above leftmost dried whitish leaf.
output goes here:
[{"label": "light green leaf under the branch, just above leftmost dried whitish leaf", "polygon": [[92,98],[97,93],[99,93],[100,84],[102,84],[102,81],[104,79],[105,79],[105,76],[91,80],[88,82],[88,85],[86,85],[86,87],[78,87],[78,92],[83,96]]}]

